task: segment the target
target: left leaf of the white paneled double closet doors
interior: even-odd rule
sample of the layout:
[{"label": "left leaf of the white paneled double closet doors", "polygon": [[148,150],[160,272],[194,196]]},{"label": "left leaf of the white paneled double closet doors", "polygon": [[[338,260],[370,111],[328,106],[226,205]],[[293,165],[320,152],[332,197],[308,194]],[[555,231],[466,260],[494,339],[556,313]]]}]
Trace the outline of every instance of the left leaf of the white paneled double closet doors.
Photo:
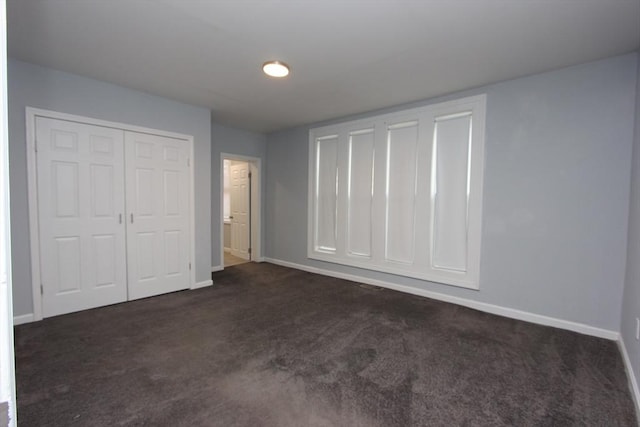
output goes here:
[{"label": "left leaf of the white paneled double closet doors", "polygon": [[36,119],[43,317],[127,299],[123,131]]}]

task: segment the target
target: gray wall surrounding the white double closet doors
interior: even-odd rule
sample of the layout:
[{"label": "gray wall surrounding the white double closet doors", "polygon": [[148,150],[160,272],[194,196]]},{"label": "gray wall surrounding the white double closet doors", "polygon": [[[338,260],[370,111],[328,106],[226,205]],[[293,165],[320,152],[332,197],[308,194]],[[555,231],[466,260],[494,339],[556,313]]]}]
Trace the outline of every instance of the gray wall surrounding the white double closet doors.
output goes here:
[{"label": "gray wall surrounding the white double closet doors", "polygon": [[9,60],[9,159],[13,310],[33,312],[27,206],[25,107],[178,132],[194,137],[196,281],[211,279],[211,115],[124,87]]}]

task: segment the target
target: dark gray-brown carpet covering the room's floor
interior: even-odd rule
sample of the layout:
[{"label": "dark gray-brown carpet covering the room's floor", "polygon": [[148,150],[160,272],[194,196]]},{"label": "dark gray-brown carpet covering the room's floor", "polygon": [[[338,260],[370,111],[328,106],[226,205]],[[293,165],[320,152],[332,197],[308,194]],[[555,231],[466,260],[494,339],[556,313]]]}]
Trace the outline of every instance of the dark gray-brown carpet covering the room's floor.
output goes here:
[{"label": "dark gray-brown carpet covering the room's floor", "polygon": [[612,341],[270,264],[16,328],[21,426],[631,426]]}]

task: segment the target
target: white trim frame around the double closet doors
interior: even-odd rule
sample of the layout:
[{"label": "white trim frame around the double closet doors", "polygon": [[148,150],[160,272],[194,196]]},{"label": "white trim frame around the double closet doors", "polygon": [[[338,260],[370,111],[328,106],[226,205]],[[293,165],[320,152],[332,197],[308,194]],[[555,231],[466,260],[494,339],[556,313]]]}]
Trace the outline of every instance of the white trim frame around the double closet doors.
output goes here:
[{"label": "white trim frame around the double closet doors", "polygon": [[189,245],[189,288],[196,287],[195,260],[195,193],[194,193],[194,156],[193,156],[193,136],[181,133],[168,132],[159,129],[152,129],[142,126],[130,125],[127,123],[111,122],[107,120],[95,119],[92,117],[79,116],[75,114],[61,113],[52,110],[26,107],[26,131],[27,131],[27,185],[29,201],[29,244],[31,251],[31,293],[33,297],[33,320],[42,320],[42,294],[41,292],[41,272],[40,272],[40,227],[38,222],[38,168],[36,157],[36,118],[46,117],[50,119],[66,120],[87,125],[102,126],[119,129],[123,131],[148,133],[152,135],[164,136],[168,138],[180,139],[187,143],[189,151],[189,233],[191,244]]}]

